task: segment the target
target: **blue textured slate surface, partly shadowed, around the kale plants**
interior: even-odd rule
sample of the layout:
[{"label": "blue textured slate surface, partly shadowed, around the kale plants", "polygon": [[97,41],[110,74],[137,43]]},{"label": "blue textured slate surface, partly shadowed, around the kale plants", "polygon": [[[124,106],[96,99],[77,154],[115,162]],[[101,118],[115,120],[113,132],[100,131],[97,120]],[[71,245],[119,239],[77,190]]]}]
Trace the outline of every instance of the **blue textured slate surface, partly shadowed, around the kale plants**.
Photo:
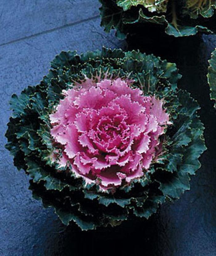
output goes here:
[{"label": "blue textured slate surface, partly shadowed, around the kale plants", "polygon": [[[216,111],[206,81],[216,37],[160,41],[143,34],[129,38],[127,45],[103,32],[98,7],[97,0],[0,1],[0,255],[216,255]],[[148,221],[81,232],[74,224],[64,227],[52,209],[32,199],[28,177],[15,169],[4,148],[4,133],[12,93],[37,84],[61,50],[82,52],[103,45],[140,48],[176,62],[184,75],[179,87],[187,88],[201,106],[208,150],[191,190]]]}]

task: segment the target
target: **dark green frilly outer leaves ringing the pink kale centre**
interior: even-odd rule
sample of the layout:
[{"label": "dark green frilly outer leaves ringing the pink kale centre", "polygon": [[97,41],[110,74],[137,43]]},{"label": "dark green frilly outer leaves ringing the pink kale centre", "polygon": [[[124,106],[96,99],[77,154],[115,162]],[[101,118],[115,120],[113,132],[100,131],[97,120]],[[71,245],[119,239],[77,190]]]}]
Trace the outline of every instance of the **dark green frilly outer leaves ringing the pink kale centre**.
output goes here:
[{"label": "dark green frilly outer leaves ringing the pink kale centre", "polygon": [[[197,102],[177,88],[181,75],[175,64],[139,51],[102,48],[81,55],[63,51],[51,67],[40,84],[12,95],[13,113],[6,132],[14,165],[31,176],[30,189],[44,207],[53,207],[65,225],[74,221],[88,230],[115,226],[134,216],[149,218],[160,204],[189,190],[190,175],[200,168],[198,158],[206,149],[204,127]],[[159,137],[160,154],[143,175],[102,191],[100,179],[88,183],[74,175],[69,162],[62,167],[53,160],[53,154],[59,152],[61,158],[64,152],[51,135],[50,116],[64,99],[63,91],[107,79],[130,81],[133,90],[163,101],[169,125]]]}]

